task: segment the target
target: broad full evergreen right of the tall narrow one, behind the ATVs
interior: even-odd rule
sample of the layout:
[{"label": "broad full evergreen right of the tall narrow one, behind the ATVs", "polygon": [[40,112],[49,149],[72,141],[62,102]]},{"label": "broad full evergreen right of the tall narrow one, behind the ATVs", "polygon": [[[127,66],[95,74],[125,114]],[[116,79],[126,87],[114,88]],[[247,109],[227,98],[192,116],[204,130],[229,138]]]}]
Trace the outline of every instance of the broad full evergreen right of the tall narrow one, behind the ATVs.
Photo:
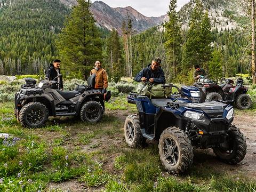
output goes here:
[{"label": "broad full evergreen right of the tall narrow one, behind the ATVs", "polygon": [[200,0],[196,0],[196,6],[191,14],[189,30],[186,43],[183,46],[182,67],[188,68],[198,64],[207,67],[210,59],[212,41],[211,25],[207,13],[203,13],[203,5]]}]

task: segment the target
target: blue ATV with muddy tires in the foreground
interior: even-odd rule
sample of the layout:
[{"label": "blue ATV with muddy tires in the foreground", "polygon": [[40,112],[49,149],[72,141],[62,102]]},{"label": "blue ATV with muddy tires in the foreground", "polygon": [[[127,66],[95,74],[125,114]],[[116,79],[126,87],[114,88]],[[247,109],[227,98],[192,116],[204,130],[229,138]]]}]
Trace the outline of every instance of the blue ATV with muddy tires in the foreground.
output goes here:
[{"label": "blue ATV with muddy tires in the foreground", "polygon": [[229,164],[241,162],[246,154],[243,133],[234,125],[232,106],[217,101],[193,103],[187,98],[149,99],[130,93],[129,103],[138,113],[126,117],[124,135],[131,148],[148,140],[159,141],[159,156],[167,171],[183,173],[193,163],[193,147],[213,148]]}]

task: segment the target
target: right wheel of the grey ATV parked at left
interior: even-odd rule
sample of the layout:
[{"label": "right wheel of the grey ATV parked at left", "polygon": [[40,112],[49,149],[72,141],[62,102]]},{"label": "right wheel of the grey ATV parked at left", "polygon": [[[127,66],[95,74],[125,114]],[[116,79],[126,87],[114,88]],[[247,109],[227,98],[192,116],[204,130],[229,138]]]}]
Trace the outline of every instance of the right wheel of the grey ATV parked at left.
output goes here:
[{"label": "right wheel of the grey ATV parked at left", "polygon": [[97,101],[85,102],[80,112],[80,118],[83,122],[96,123],[100,121],[102,115],[103,107]]}]

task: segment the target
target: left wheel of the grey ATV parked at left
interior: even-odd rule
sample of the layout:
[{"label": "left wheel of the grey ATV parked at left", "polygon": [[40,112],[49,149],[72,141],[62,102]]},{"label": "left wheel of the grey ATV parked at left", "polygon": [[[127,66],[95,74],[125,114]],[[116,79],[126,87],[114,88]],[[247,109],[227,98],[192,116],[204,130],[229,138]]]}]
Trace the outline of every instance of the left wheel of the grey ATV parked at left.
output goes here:
[{"label": "left wheel of the grey ATV parked at left", "polygon": [[22,126],[36,128],[43,126],[48,116],[49,111],[44,104],[30,102],[21,108],[18,119]]}]

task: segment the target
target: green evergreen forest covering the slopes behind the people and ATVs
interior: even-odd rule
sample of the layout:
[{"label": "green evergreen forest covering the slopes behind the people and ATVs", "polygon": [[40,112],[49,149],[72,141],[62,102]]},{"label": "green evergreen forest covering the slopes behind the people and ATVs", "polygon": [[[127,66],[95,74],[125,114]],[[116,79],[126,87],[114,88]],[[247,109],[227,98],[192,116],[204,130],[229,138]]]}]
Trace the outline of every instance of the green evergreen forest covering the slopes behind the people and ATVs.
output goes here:
[{"label": "green evergreen forest covering the slopes behind the people and ATVs", "polygon": [[[122,38],[115,30],[109,33],[95,27],[91,13],[81,11],[82,7],[84,10],[89,10],[90,2],[83,4],[78,2],[78,6],[74,7],[71,13],[58,1],[46,3],[17,0],[12,6],[9,6],[10,1],[2,0],[2,2],[6,5],[1,7],[0,12],[0,33],[2,34],[0,74],[42,73],[52,59],[58,57],[62,60],[62,68],[65,68],[62,70],[63,75],[85,78],[94,60],[98,58],[102,59],[103,67],[107,69],[109,77],[117,82],[122,76],[137,74],[155,56],[162,58],[167,82],[191,83],[193,63],[197,61],[211,78],[218,78],[216,73],[212,73],[212,69],[216,66],[219,66],[221,73],[218,74],[222,77],[234,76],[237,73],[251,73],[248,20],[247,24],[243,25],[244,29],[218,30],[215,28],[212,30],[213,26],[210,26],[207,12],[203,11],[225,4],[224,1],[218,1],[218,5],[213,4],[213,1],[205,1],[203,5],[200,1],[195,1],[197,6],[195,9],[190,9],[189,13],[189,30],[182,30],[181,23],[185,18],[181,22],[181,17],[185,8],[177,14],[176,1],[172,0],[168,12],[171,20],[163,25],[165,29],[159,25],[136,34],[132,29],[132,20],[127,18],[127,21],[123,22]],[[191,6],[191,3],[187,6]],[[19,13],[17,7],[22,7]],[[234,17],[234,13],[226,12],[226,17]],[[83,20],[78,17],[83,14],[84,18],[91,19]],[[68,17],[64,22],[66,15]],[[41,20],[37,20],[38,17]],[[35,18],[34,22],[28,23],[28,18]],[[11,30],[8,23],[13,23],[15,29],[10,33],[6,33],[6,30]],[[169,27],[172,25],[177,27]],[[88,32],[84,37],[82,26]],[[93,33],[89,33],[91,29]],[[6,36],[6,34],[9,35]],[[59,38],[57,38],[58,34]],[[178,35],[175,37],[173,34]],[[72,38],[69,38],[70,36]],[[83,38],[84,42],[79,41]],[[89,48],[89,44],[94,48]],[[197,46],[194,46],[195,44]],[[216,50],[215,53],[213,53],[214,50]],[[81,54],[84,56],[82,57]],[[218,61],[216,57],[219,58]]]}]

